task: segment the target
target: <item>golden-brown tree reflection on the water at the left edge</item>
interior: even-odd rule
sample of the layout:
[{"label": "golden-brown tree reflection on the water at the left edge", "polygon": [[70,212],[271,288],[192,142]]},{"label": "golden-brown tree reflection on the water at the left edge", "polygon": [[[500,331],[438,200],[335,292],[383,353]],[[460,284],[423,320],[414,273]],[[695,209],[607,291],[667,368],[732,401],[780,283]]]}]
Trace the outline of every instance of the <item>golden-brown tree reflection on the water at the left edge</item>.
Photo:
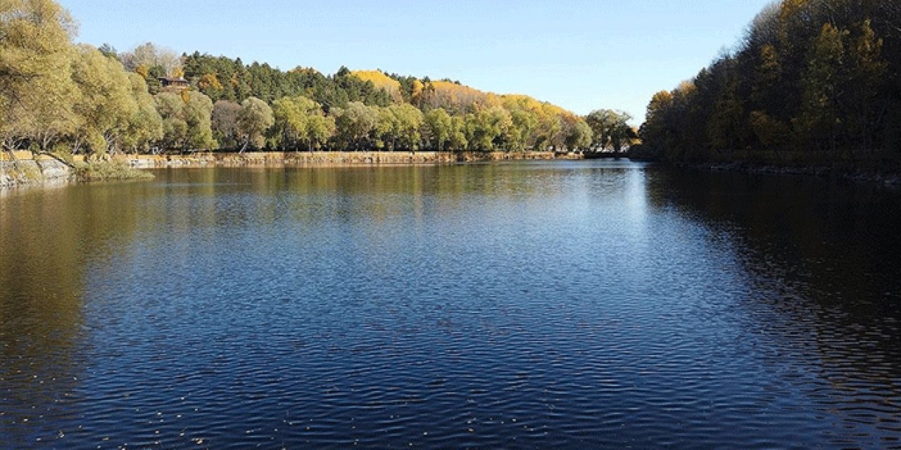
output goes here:
[{"label": "golden-brown tree reflection on the water at the left edge", "polygon": [[14,447],[59,433],[77,411],[89,345],[87,272],[133,232],[139,184],[33,189],[0,199],[0,436]]}]

